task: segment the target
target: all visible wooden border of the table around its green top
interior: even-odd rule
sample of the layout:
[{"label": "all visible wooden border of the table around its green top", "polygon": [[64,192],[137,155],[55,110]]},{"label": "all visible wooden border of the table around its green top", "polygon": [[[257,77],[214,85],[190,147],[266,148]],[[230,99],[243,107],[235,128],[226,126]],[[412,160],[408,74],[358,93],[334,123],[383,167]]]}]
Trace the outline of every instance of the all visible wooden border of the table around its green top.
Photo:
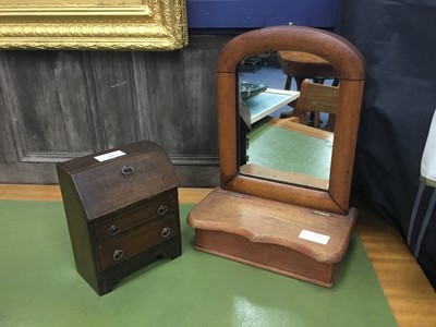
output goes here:
[{"label": "all visible wooden border of the table around its green top", "polygon": [[[197,203],[210,189],[180,189],[181,203]],[[0,199],[61,201],[58,185],[0,184]],[[400,234],[363,199],[358,230],[399,326],[436,326],[436,293]],[[1,218],[1,217],[0,217]]]}]

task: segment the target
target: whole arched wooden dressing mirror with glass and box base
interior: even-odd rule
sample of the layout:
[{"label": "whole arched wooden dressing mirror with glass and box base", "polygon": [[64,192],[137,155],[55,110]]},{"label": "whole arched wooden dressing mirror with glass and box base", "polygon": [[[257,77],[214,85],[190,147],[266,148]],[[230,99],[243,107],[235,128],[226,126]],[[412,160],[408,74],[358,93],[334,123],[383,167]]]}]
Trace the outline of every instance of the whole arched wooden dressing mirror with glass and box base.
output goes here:
[{"label": "whole arched wooden dressing mirror with glass and box base", "polygon": [[[241,70],[253,58],[289,51],[319,60],[330,70],[323,76],[335,84],[320,90],[289,60],[278,68],[286,72],[286,89],[244,81],[251,73]],[[229,41],[217,69],[220,186],[187,217],[194,247],[332,287],[356,219],[349,196],[364,84],[361,53],[329,32],[267,27]],[[298,89],[289,87],[289,75]],[[319,96],[308,111],[316,128],[304,119],[305,105],[314,102],[308,94]],[[269,97],[284,100],[272,108],[265,105]],[[256,102],[266,114],[257,116]],[[282,107],[291,110],[288,105],[293,116],[274,117]],[[317,125],[319,107],[330,108],[320,119],[329,131]]]}]

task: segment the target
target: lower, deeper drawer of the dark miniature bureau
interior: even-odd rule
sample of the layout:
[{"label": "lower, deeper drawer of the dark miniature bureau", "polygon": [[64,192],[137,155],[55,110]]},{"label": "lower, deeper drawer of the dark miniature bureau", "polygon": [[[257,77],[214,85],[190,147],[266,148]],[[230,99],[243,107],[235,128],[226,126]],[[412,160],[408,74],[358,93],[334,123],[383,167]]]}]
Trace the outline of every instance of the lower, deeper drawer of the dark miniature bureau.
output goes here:
[{"label": "lower, deeper drawer of the dark miniature bureau", "polygon": [[165,216],[143,223],[99,245],[102,269],[129,259],[179,233],[175,216]]}]

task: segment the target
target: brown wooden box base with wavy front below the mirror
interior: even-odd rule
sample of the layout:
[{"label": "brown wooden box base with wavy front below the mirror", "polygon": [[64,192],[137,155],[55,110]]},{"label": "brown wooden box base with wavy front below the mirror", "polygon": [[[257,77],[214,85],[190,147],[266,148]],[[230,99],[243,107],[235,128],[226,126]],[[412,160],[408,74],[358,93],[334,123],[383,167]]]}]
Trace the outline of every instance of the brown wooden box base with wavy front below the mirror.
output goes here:
[{"label": "brown wooden box base with wavy front below the mirror", "polygon": [[[189,215],[196,250],[332,287],[356,220],[219,187]],[[326,244],[324,244],[326,243]]]}]

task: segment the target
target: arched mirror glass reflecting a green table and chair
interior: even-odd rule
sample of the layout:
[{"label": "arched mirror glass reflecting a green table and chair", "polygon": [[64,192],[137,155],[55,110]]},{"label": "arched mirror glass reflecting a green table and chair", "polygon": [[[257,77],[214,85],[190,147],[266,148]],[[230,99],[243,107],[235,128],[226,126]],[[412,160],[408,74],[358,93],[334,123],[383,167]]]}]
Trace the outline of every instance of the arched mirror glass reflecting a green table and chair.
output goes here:
[{"label": "arched mirror glass reflecting a green table and chair", "polygon": [[[327,108],[330,96],[316,99],[322,90],[301,89],[301,85],[303,81],[303,85],[323,84],[337,95],[339,81],[332,66],[311,53],[271,51],[245,58],[237,81],[239,172],[327,191],[336,105],[323,111],[319,107]],[[303,90],[307,101],[303,101]],[[300,111],[303,102],[318,107],[295,116],[299,99]]]}]

